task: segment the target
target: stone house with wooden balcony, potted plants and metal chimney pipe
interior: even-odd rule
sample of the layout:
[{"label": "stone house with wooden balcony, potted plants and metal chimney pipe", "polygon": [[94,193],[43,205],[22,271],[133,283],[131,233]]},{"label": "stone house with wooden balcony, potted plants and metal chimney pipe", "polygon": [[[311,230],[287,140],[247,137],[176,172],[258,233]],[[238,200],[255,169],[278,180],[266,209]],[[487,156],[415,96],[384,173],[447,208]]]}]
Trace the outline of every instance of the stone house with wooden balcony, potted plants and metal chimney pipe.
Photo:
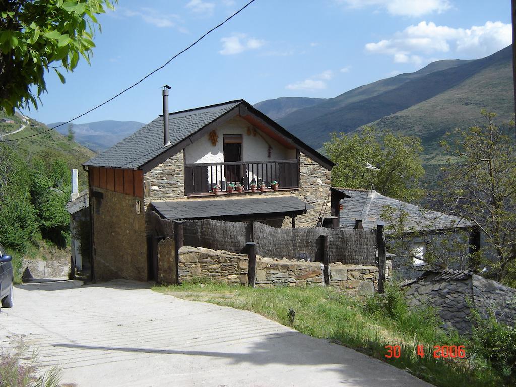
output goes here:
[{"label": "stone house with wooden balcony, potted plants and metal chimney pipe", "polygon": [[[84,164],[94,276],[157,278],[150,212],[171,220],[315,227],[332,167],[244,100],[165,110]],[[233,185],[242,192],[230,193]]]}]

